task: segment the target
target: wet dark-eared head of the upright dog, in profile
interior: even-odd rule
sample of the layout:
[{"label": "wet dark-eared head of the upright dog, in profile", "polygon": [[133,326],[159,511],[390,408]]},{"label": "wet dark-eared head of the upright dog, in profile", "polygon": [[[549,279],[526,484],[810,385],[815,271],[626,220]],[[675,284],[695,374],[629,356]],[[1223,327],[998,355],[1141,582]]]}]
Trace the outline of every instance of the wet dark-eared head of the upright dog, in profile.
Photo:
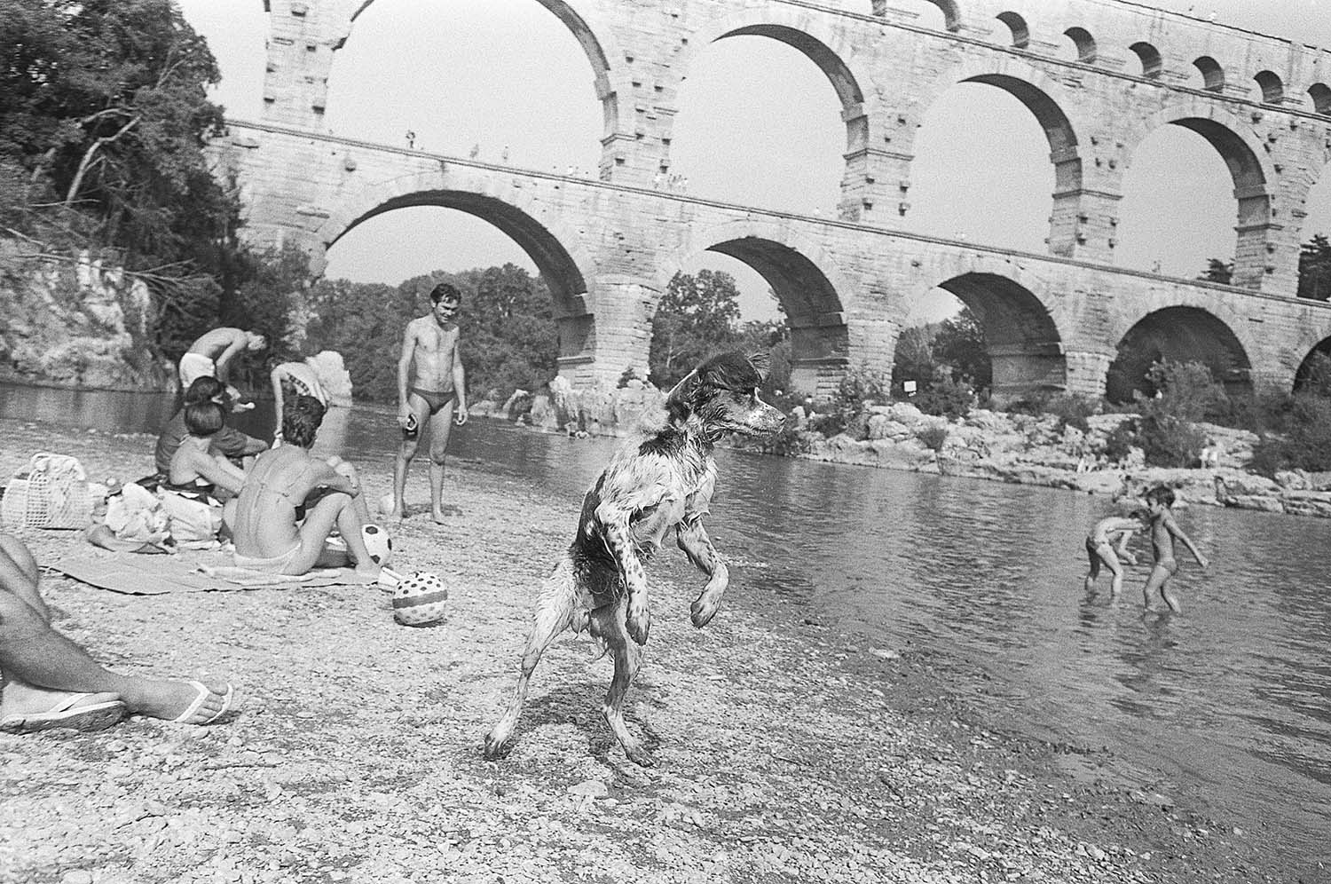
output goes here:
[{"label": "wet dark-eared head of the upright dog, in profile", "polygon": [[704,359],[666,397],[671,421],[693,418],[711,439],[727,433],[767,435],[785,415],[759,398],[767,375],[767,354],[720,353]]}]

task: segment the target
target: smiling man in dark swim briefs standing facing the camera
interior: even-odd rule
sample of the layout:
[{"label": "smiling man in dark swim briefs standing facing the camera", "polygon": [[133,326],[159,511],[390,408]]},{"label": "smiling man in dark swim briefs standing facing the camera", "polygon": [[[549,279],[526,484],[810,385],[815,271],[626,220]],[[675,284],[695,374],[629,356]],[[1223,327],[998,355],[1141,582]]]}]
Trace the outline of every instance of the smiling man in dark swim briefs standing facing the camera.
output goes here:
[{"label": "smiling man in dark swim briefs standing facing the camera", "polygon": [[[402,445],[393,467],[393,519],[405,515],[402,499],[407,467],[415,457],[421,430],[430,434],[430,515],[443,522],[443,455],[449,447],[450,422],[467,422],[466,377],[458,353],[458,310],[462,293],[447,282],[430,292],[430,314],[411,320],[402,335],[398,359],[398,426]],[[413,367],[415,379],[410,378]],[[409,386],[410,382],[410,386]],[[457,414],[454,409],[457,407]]]}]

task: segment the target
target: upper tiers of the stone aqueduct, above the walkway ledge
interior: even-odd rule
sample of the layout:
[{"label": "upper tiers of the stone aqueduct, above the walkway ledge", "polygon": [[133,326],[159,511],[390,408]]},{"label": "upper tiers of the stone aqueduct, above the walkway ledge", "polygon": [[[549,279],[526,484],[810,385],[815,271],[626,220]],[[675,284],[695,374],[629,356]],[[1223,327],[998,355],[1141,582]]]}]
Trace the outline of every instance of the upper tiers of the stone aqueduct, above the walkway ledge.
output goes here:
[{"label": "upper tiers of the stone aqueduct, above the walkway ledge", "polygon": [[[338,49],[377,1],[264,0],[264,124],[326,129]],[[1129,0],[928,0],[937,27],[912,9],[926,0],[530,1],[583,49],[604,120],[587,138],[608,184],[650,188],[668,173],[695,59],[713,41],[763,37],[804,53],[840,104],[843,221],[912,229],[916,130],[948,89],[977,83],[1014,96],[1047,137],[1050,254],[1114,264],[1123,174],[1155,128],[1179,125],[1233,177],[1233,204],[1215,210],[1238,232],[1235,284],[1296,286],[1303,204],[1331,152],[1328,52]]]}]

